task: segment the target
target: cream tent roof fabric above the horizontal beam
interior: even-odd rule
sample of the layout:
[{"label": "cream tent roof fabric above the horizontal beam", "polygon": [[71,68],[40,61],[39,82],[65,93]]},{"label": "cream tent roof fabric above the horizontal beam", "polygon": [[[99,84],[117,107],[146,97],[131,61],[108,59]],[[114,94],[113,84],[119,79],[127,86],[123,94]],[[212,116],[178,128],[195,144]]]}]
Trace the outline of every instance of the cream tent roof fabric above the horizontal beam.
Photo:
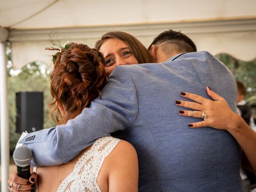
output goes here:
[{"label": "cream tent roof fabric above the horizontal beam", "polygon": [[255,0],[1,0],[0,26],[35,29],[177,23],[255,14]]}]

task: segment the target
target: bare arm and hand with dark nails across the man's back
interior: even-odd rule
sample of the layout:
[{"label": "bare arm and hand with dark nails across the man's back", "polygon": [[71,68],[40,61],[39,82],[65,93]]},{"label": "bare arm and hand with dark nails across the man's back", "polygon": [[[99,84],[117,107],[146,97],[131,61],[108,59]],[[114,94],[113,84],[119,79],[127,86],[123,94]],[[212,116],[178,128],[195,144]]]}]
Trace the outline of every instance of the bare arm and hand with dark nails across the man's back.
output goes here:
[{"label": "bare arm and hand with dark nails across the man's back", "polygon": [[[206,115],[204,121],[191,123],[188,126],[190,128],[212,127],[230,132],[244,152],[242,166],[256,172],[256,132],[246,124],[240,115],[230,109],[224,98],[210,90],[209,87],[206,90],[213,101],[196,94],[181,93],[182,97],[195,102],[180,101],[180,104],[176,105],[195,110],[193,117],[202,118],[202,112]],[[180,110],[179,114],[191,117],[192,111]]]}]

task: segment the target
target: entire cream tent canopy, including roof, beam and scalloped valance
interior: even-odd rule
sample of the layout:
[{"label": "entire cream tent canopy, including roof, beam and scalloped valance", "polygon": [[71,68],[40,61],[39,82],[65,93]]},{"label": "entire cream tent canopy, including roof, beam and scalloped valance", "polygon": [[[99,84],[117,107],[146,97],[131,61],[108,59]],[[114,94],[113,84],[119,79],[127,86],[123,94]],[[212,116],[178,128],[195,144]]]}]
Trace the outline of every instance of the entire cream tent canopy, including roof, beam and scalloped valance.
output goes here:
[{"label": "entire cream tent canopy, including roof, beam and scalloped valance", "polygon": [[181,30],[212,54],[256,58],[255,0],[1,0],[0,26],[7,28],[13,68],[33,61],[50,63],[49,34],[88,44],[108,31],[136,36],[145,46],[160,32]]}]

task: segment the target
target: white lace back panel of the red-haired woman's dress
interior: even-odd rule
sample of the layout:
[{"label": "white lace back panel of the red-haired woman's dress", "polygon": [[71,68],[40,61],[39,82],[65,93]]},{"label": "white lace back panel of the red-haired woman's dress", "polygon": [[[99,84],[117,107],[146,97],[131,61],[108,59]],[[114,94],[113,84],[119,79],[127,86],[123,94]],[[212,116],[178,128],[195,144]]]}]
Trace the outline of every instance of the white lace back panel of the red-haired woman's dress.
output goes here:
[{"label": "white lace back panel of the red-haired woman's dress", "polygon": [[97,139],[76,162],[73,172],[62,181],[58,192],[101,192],[96,182],[100,168],[119,141],[110,136]]}]

